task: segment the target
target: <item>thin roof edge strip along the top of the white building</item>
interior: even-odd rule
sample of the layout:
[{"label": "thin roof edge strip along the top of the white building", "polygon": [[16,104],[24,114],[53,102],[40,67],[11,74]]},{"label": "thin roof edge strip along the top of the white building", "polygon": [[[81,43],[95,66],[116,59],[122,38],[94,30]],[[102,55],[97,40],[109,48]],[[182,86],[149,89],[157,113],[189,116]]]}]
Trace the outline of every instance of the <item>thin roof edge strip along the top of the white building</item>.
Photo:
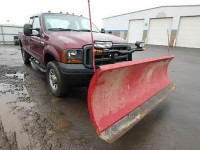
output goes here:
[{"label": "thin roof edge strip along the top of the white building", "polygon": [[200,5],[171,5],[171,6],[169,5],[169,6],[159,6],[159,7],[153,7],[153,8],[138,10],[138,11],[134,11],[134,12],[124,13],[124,14],[120,14],[120,15],[110,16],[110,17],[106,17],[106,18],[103,18],[103,19],[109,19],[109,18],[114,18],[114,17],[118,17],[118,16],[128,15],[128,14],[132,14],[132,13],[137,13],[137,12],[147,11],[147,10],[152,10],[152,9],[157,9],[157,8],[164,8],[164,7],[194,7],[194,6],[197,7],[197,6],[200,6]]}]

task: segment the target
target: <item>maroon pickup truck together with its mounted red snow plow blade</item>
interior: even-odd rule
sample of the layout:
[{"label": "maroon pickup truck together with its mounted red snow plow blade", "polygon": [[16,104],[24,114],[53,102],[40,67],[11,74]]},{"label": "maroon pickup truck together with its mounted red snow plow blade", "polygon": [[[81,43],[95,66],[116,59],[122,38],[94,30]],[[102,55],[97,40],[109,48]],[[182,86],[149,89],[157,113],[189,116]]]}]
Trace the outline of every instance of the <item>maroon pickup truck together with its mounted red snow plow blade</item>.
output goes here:
[{"label": "maroon pickup truck together with its mounted red snow plow blade", "polygon": [[167,75],[174,56],[132,61],[133,52],[144,50],[144,42],[132,47],[101,31],[81,16],[41,13],[24,25],[19,43],[24,63],[46,72],[55,96],[90,84],[92,122],[100,138],[111,143],[174,90]]}]

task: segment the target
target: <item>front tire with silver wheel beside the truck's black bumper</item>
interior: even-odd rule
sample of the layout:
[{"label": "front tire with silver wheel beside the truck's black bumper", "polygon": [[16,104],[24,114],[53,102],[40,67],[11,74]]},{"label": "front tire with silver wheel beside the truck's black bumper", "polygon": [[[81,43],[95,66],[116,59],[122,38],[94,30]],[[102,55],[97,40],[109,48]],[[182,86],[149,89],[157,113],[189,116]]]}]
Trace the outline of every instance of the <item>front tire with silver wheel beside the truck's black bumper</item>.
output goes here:
[{"label": "front tire with silver wheel beside the truck's black bumper", "polygon": [[56,61],[51,61],[47,64],[46,76],[51,92],[57,97],[65,96],[68,87],[63,80],[62,74],[58,69]]}]

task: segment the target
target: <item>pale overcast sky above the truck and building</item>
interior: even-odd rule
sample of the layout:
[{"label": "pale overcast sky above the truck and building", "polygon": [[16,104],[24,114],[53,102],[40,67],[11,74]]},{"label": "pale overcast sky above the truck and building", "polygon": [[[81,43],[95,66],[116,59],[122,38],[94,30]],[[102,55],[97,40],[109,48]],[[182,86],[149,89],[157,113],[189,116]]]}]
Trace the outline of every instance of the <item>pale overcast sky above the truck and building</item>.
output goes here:
[{"label": "pale overcast sky above the truck and building", "polygon": [[[198,5],[200,0],[91,0],[92,19],[102,27],[102,18],[167,5]],[[0,24],[23,25],[38,12],[75,13],[88,17],[87,0],[1,0]]]}]

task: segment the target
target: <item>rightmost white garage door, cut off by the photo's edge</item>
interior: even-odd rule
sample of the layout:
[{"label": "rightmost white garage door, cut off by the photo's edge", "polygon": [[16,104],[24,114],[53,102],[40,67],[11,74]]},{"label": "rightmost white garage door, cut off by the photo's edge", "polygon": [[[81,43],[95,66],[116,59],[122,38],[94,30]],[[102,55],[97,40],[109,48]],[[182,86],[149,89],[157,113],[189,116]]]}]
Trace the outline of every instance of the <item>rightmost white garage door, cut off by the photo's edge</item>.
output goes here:
[{"label": "rightmost white garage door, cut off by the photo's edge", "polygon": [[181,18],[176,46],[200,48],[200,17]]}]

